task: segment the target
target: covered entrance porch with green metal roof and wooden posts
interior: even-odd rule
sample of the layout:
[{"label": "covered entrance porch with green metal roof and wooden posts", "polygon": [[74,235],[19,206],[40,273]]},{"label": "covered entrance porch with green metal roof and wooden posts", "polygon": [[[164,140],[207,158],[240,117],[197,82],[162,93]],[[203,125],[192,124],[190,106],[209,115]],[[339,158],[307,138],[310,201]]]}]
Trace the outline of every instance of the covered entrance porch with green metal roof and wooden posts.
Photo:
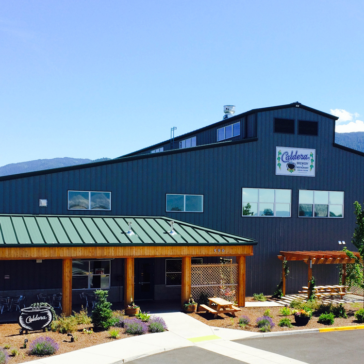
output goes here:
[{"label": "covered entrance porch with green metal roof and wooden posts", "polygon": [[72,260],[123,258],[127,305],[135,294],[139,299],[150,295],[151,260],[146,258],[182,259],[183,303],[191,294],[192,257],[236,257],[237,301],[244,306],[245,260],[257,244],[253,239],[172,222],[167,217],[1,215],[0,229],[0,260],[62,261],[62,309],[66,315],[72,312]]}]

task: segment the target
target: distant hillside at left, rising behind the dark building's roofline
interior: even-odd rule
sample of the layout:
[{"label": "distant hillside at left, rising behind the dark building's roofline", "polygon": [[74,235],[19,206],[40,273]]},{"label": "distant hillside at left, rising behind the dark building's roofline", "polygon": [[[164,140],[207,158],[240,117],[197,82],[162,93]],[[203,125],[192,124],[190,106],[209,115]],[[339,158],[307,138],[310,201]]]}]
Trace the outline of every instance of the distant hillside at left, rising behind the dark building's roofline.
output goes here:
[{"label": "distant hillside at left, rising behind the dark building's roofline", "polygon": [[82,159],[82,158],[53,158],[37,159],[36,161],[11,163],[0,167],[0,176],[9,176],[11,174],[40,171],[58,167],[68,167],[69,165],[82,165],[91,162],[108,161],[110,158],[100,159]]}]

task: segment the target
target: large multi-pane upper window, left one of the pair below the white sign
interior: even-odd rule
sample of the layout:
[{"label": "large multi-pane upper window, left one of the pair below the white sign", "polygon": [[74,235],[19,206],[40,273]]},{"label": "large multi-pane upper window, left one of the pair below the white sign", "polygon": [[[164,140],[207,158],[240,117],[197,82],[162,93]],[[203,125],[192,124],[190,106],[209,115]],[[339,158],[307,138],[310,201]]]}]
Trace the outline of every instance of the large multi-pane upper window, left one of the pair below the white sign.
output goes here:
[{"label": "large multi-pane upper window, left one of the pair below the white sign", "polygon": [[243,188],[242,216],[291,216],[291,190]]}]

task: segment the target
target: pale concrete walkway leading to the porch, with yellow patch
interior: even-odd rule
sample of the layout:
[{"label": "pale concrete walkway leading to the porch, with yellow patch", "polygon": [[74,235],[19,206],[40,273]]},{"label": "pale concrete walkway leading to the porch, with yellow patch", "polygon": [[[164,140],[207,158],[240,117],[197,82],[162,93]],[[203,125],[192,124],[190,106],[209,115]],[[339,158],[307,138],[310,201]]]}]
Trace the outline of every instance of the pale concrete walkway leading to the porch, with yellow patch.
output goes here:
[{"label": "pale concrete walkway leading to the porch, with yellow patch", "polygon": [[172,349],[196,346],[248,364],[304,364],[295,359],[231,341],[263,337],[262,333],[211,327],[182,312],[158,316],[165,319],[168,331],[133,336],[28,363],[118,364]]}]

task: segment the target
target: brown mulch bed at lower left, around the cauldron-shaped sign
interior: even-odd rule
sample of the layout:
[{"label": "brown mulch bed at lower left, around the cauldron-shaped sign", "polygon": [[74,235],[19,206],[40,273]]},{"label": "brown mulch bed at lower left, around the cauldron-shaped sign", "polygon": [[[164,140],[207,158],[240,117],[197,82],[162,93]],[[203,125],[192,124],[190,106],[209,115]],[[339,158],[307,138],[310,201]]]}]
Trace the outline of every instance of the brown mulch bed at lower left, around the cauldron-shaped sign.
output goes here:
[{"label": "brown mulch bed at lower left, around the cauldron-shaped sign", "polygon": [[[49,336],[54,339],[59,344],[59,350],[55,355],[64,354],[69,351],[82,349],[84,347],[91,347],[98,344],[109,343],[110,341],[115,341],[115,339],[111,339],[108,331],[99,331],[94,332],[92,334],[83,333],[83,329],[91,329],[93,328],[92,324],[89,325],[78,325],[77,331],[73,332],[73,337],[75,341],[73,343],[70,342],[70,337],[67,334],[60,334],[59,332],[43,332],[43,331],[29,331],[28,335],[19,334],[19,325],[18,324],[1,324],[0,325],[0,347],[3,348],[4,345],[11,345],[11,348],[16,348],[20,355],[15,357],[9,357],[9,364],[16,364],[22,362],[29,362],[31,360],[37,360],[40,358],[46,358],[47,356],[35,356],[29,355],[28,349],[22,348],[24,345],[24,339],[28,339],[29,348],[30,343],[38,338],[39,336]],[[119,329],[119,339],[124,339],[126,337],[134,336],[124,332],[124,329]],[[77,340],[76,340],[77,338]],[[118,339],[117,339],[118,340]],[[11,349],[6,350],[10,355]],[[24,357],[22,355],[24,354]],[[49,355],[51,356],[51,355]]]}]

